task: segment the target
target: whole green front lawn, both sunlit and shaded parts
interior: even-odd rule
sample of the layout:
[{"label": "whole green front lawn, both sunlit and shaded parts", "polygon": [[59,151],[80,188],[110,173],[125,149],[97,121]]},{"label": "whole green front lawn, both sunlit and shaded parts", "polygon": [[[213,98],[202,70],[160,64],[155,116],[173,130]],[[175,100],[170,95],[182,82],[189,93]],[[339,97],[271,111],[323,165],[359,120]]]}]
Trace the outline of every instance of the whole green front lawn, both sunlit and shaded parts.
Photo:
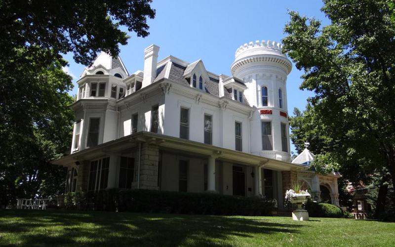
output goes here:
[{"label": "whole green front lawn, both sunlit and shaded parts", "polygon": [[373,220],[0,210],[0,246],[395,246]]}]

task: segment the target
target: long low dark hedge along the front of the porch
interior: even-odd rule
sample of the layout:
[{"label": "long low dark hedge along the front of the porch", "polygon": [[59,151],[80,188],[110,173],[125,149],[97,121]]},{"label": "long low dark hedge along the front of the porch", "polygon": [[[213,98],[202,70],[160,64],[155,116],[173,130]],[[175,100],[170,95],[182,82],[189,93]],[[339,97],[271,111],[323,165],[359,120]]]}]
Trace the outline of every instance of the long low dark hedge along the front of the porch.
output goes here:
[{"label": "long low dark hedge along the front of the porch", "polygon": [[215,215],[271,215],[274,203],[256,197],[110,189],[86,194],[87,209]]}]

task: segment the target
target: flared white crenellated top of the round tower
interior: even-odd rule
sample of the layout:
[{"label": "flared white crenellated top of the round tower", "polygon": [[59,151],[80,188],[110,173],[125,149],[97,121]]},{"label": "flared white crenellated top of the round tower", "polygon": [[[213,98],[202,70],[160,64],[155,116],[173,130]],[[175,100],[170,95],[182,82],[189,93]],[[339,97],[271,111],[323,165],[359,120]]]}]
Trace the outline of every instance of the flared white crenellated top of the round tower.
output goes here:
[{"label": "flared white crenellated top of the round tower", "polygon": [[235,62],[231,66],[233,75],[245,64],[260,62],[277,65],[283,68],[286,74],[292,69],[292,64],[287,56],[282,53],[283,45],[276,41],[251,41],[240,45],[235,52]]}]

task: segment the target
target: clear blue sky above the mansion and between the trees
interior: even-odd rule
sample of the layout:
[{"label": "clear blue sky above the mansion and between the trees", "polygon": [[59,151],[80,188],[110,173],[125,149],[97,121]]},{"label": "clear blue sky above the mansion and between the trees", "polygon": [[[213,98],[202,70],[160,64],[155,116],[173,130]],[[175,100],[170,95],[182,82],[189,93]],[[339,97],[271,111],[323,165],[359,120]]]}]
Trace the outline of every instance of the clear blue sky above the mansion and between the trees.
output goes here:
[{"label": "clear blue sky above the mansion and between the trees", "polygon": [[[144,48],[155,43],[160,47],[158,60],[170,54],[188,62],[202,59],[210,72],[230,75],[237,47],[255,40],[281,41],[289,21],[288,9],[327,24],[320,11],[322,5],[320,0],[154,0],[152,7],[157,14],[148,21],[150,35],[139,38],[130,33],[131,39],[120,47],[119,56],[129,73],[143,70]],[[75,83],[84,66],[76,64],[71,54],[64,58]],[[299,89],[301,75],[295,66],[288,75],[289,114],[294,107],[303,110],[312,95]],[[70,93],[77,93],[76,83]]]}]

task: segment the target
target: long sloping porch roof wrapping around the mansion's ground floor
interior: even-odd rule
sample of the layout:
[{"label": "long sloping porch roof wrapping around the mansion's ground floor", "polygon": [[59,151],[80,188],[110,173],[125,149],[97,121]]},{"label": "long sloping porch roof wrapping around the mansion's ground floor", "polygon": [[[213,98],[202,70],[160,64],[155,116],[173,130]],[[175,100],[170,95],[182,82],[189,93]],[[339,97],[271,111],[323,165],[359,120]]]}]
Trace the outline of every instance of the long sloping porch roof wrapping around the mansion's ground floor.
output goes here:
[{"label": "long sloping porch roof wrapping around the mansion's ground floor", "polygon": [[105,142],[93,148],[64,156],[52,161],[52,164],[69,166],[76,162],[92,160],[103,155],[118,154],[122,150],[137,147],[138,143],[147,142],[158,145],[159,149],[177,151],[190,155],[203,157],[215,156],[224,162],[238,163],[243,165],[257,165],[275,170],[305,170],[308,167],[289,162],[278,161],[258,155],[235,151],[227,148],[217,147],[196,141],[185,140],[177,137],[141,131],[127,135],[113,141]]}]

